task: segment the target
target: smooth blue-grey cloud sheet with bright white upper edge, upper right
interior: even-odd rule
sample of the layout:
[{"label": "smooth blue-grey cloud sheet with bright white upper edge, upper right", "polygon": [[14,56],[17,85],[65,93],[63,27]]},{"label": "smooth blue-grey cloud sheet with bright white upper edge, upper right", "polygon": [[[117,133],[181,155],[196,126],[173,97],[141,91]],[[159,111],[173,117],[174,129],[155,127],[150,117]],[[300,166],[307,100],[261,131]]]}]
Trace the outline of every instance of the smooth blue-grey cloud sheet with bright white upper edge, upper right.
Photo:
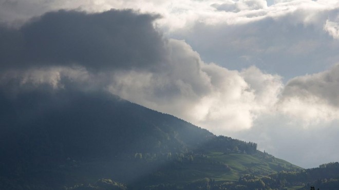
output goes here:
[{"label": "smooth blue-grey cloud sheet with bright white upper edge, upper right", "polygon": [[329,22],[336,21],[337,7],[332,1],[291,1],[258,10],[222,11],[215,13],[216,22],[205,16],[171,36],[185,39],[206,62],[236,70],[256,65],[287,82],[339,61],[339,42],[329,35],[332,31],[335,36],[335,25]]}]

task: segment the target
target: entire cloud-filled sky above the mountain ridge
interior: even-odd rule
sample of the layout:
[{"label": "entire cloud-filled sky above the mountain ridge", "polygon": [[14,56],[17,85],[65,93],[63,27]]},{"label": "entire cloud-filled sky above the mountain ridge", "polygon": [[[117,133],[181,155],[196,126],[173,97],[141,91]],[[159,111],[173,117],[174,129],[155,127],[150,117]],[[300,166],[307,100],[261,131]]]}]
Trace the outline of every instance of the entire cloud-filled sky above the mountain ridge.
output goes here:
[{"label": "entire cloud-filled sky above the mountain ridge", "polygon": [[0,87],[103,89],[310,168],[339,161],[339,2],[0,0]]}]

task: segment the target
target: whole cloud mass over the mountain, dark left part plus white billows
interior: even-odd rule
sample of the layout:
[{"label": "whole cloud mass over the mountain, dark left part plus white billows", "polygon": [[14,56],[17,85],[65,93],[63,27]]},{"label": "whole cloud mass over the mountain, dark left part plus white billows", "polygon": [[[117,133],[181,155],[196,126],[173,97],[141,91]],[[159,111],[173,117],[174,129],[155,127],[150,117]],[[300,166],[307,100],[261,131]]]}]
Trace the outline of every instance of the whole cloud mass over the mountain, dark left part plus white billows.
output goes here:
[{"label": "whole cloud mass over the mountain, dark left part plus white billows", "polygon": [[219,133],[250,128],[274,105],[278,75],[205,63],[184,41],[162,37],[154,19],[130,10],[58,11],[20,28],[3,27],[1,81],[107,89]]}]

